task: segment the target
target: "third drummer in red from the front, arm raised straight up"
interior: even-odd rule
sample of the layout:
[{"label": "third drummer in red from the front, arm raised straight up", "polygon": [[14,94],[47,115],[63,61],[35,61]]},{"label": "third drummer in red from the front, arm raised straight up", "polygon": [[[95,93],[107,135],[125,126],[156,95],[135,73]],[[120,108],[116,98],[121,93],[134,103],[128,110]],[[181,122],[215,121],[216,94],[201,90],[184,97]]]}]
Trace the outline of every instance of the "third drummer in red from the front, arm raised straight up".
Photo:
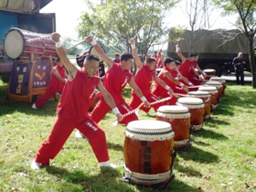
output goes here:
[{"label": "third drummer in red from the front, arm raised straight up", "polygon": [[[130,43],[132,46],[133,57],[135,59],[135,63],[137,66],[137,71],[134,80],[138,87],[143,92],[146,100],[150,102],[158,101],[158,98],[150,91],[151,85],[154,80],[159,85],[161,85],[166,92],[168,92],[168,96],[173,95],[172,89],[168,85],[166,85],[166,83],[163,80],[160,80],[155,74],[155,58],[146,59],[146,64],[144,64],[137,54],[133,38],[131,38]],[[140,98],[135,94],[135,91],[132,89],[132,99],[129,103],[130,107],[132,109],[136,109],[141,104],[141,102],[142,101],[140,100]],[[152,107],[156,112],[157,109],[162,105],[163,102],[159,102],[152,105]],[[142,106],[140,110],[143,110],[144,112],[149,112],[150,108],[145,108],[144,106]]]}]

